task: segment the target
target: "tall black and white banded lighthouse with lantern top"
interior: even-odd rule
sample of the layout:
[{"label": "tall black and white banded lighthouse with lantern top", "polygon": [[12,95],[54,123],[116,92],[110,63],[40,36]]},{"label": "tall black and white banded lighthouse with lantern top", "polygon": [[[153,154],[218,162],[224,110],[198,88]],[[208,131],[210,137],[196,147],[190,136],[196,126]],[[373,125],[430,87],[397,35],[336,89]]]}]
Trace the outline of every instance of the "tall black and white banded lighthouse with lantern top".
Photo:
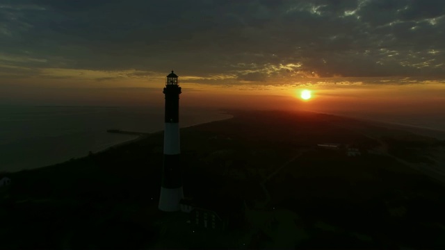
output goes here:
[{"label": "tall black and white banded lighthouse with lantern top", "polygon": [[162,169],[159,210],[179,210],[179,201],[184,198],[179,147],[179,94],[178,76],[172,71],[167,76],[165,88],[164,165]]}]

